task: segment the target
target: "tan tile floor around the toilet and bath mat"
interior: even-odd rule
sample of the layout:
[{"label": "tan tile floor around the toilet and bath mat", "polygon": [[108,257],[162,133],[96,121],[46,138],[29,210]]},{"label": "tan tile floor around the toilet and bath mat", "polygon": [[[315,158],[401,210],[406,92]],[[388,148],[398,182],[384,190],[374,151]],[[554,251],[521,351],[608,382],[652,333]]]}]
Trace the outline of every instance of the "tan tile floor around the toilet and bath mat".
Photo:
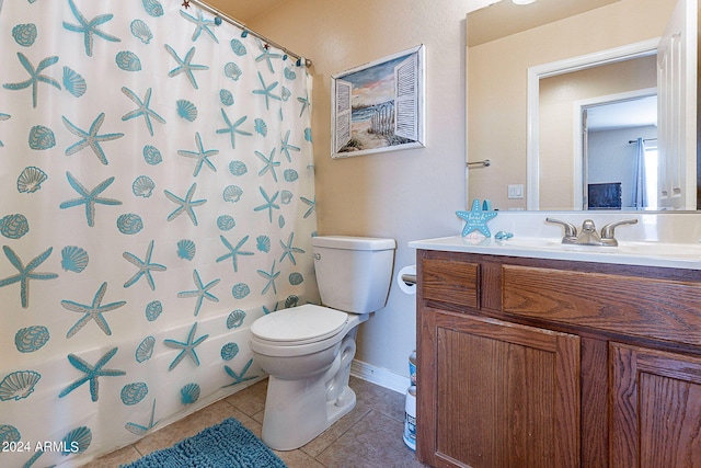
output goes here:
[{"label": "tan tile floor around the toilet and bath mat", "polygon": [[[289,468],[423,468],[402,441],[404,396],[350,377],[357,396],[353,411],[309,444],[290,452],[276,452]],[[169,447],[227,418],[235,418],[258,437],[267,379],[212,403],[134,445],[83,465],[83,468],[112,468],[142,455]]]}]

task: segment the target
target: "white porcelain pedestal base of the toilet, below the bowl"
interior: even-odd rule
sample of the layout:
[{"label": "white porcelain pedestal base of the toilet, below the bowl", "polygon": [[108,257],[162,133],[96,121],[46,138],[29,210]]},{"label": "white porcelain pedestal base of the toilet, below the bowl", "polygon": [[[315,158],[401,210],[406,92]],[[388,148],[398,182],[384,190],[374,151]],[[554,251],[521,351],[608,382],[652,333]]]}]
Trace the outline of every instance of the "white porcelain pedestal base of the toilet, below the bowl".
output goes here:
[{"label": "white porcelain pedestal base of the toilet, below the bowl", "polygon": [[[348,387],[355,356],[355,330],[341,342],[331,367],[299,380],[268,377],[263,442],[275,450],[294,450],[309,443],[355,408]],[[292,397],[292,398],[290,398]]]}]

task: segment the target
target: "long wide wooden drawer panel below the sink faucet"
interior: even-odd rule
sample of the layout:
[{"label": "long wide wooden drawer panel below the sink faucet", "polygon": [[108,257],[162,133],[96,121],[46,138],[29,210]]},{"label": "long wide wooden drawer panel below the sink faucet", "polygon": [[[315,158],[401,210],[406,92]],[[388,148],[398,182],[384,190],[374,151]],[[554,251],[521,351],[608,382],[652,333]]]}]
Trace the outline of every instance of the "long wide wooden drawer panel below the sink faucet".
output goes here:
[{"label": "long wide wooden drawer panel below the sink faucet", "polygon": [[701,285],[504,265],[506,312],[698,345]]}]

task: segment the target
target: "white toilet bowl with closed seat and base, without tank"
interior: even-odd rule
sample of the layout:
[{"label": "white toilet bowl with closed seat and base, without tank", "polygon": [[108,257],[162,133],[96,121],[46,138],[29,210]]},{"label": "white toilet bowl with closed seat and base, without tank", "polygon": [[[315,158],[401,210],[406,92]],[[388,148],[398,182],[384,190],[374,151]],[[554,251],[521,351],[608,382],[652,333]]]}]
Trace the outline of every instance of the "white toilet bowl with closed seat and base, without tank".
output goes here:
[{"label": "white toilet bowl with closed seat and base, without tank", "polygon": [[[309,323],[319,335],[307,334],[298,341],[269,338],[266,318],[291,329]],[[262,438],[271,448],[299,448],[355,407],[348,378],[357,326],[367,318],[304,305],[253,323],[251,350],[269,374]],[[319,321],[327,328],[322,329]]]}]

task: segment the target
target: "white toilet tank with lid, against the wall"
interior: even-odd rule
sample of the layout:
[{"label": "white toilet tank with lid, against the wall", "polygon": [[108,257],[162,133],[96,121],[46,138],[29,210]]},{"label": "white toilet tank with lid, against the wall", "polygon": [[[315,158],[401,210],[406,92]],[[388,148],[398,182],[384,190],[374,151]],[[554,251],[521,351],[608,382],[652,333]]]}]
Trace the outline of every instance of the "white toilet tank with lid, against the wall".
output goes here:
[{"label": "white toilet tank with lid, against the wall", "polygon": [[345,312],[369,313],[387,304],[394,264],[394,239],[312,238],[321,303]]}]

